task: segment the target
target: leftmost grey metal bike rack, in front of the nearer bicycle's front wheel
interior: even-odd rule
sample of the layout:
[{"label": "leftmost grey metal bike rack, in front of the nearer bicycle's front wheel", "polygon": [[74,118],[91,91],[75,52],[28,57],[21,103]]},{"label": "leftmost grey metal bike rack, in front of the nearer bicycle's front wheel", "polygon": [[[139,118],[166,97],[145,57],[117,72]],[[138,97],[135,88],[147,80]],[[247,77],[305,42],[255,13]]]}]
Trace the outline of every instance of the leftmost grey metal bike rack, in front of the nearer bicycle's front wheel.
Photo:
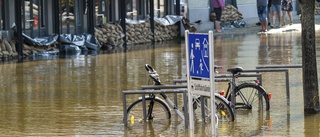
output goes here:
[{"label": "leftmost grey metal bike rack, in front of the nearer bicycle's front wheel", "polygon": [[[145,94],[160,94],[160,93],[183,93],[183,101],[184,104],[187,104],[187,89],[175,89],[175,90],[124,90],[122,91],[123,97],[123,122],[124,126],[127,127],[127,94],[142,94],[142,102],[143,102],[143,116],[146,119],[146,102],[145,102]],[[184,109],[185,113],[185,127],[188,127],[188,119],[187,119],[187,109]]]}]

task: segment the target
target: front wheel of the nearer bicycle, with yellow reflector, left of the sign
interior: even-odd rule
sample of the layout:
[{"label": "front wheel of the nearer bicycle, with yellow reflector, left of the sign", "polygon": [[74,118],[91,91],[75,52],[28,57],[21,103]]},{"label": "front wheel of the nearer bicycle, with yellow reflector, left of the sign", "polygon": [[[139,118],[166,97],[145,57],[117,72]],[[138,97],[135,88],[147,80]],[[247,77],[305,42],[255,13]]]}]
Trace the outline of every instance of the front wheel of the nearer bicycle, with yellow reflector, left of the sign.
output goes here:
[{"label": "front wheel of the nearer bicycle, with yellow reflector, left of the sign", "polygon": [[[148,116],[148,109],[150,109],[151,98],[146,98],[146,115]],[[152,128],[152,130],[162,131],[170,126],[171,113],[168,106],[161,99],[153,99],[154,104],[151,112],[151,117],[144,120],[142,99],[132,103],[127,110],[127,125],[129,130],[141,130]]]}]

